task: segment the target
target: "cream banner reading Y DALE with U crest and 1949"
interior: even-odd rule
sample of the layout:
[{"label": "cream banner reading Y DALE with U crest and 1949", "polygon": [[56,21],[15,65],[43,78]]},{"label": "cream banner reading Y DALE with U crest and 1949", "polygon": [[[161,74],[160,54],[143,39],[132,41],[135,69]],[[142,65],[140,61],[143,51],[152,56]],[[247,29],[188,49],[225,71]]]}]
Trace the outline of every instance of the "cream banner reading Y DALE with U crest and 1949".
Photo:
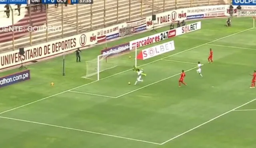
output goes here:
[{"label": "cream banner reading Y DALE with U crest and 1949", "polygon": [[[186,20],[186,9],[178,9],[168,12],[156,14],[156,20],[152,21],[152,16],[146,18],[147,29],[157,27],[165,24],[171,24],[172,22]],[[154,23],[154,25],[153,25]]]}]

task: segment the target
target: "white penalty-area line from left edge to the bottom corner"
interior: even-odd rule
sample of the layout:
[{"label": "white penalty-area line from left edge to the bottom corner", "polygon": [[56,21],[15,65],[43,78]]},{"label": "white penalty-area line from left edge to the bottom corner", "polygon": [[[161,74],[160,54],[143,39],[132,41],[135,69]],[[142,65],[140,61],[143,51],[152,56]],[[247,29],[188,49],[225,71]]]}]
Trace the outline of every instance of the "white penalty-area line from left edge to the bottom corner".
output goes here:
[{"label": "white penalty-area line from left edge to the bottom corner", "polygon": [[41,123],[41,122],[22,120],[22,119],[17,119],[17,118],[9,118],[9,117],[4,117],[4,116],[0,116],[0,118],[4,118],[4,119],[8,119],[8,120],[22,121],[22,122],[28,122],[28,123],[33,123],[33,124],[40,124],[40,125],[45,125],[45,126],[52,126],[52,127],[56,127],[56,128],[64,128],[64,129],[68,129],[68,130],[76,130],[76,131],[87,132],[87,133],[91,133],[91,134],[98,134],[98,135],[103,135],[103,136],[116,137],[116,138],[121,138],[121,139],[126,139],[126,140],[133,140],[133,141],[138,141],[138,142],[160,145],[159,143],[156,143],[156,142],[150,142],[150,141],[139,140],[139,139],[134,139],[134,138],[127,138],[127,137],[116,136],[116,135],[111,135],[111,134],[104,134],[104,133],[100,133],[100,132],[92,132],[92,131],[81,130],[81,129],[77,129],[77,128],[70,128],[70,127],[65,127],[65,126],[58,126],[58,125],[53,125],[53,124],[46,124],[46,123]]}]

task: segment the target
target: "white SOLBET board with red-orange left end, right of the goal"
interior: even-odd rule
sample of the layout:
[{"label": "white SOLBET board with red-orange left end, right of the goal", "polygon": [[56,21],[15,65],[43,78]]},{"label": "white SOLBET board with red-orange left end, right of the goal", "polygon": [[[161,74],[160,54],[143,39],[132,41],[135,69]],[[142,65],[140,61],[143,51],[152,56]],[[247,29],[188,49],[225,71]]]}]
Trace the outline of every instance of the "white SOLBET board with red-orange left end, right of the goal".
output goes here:
[{"label": "white SOLBET board with red-orange left end, right of the goal", "polygon": [[167,53],[173,50],[175,50],[174,41],[169,41],[167,43],[163,43],[160,45],[156,45],[154,47],[143,49],[137,55],[137,59],[141,59],[141,60],[149,59],[151,57],[155,57],[157,55],[161,55],[163,53]]}]

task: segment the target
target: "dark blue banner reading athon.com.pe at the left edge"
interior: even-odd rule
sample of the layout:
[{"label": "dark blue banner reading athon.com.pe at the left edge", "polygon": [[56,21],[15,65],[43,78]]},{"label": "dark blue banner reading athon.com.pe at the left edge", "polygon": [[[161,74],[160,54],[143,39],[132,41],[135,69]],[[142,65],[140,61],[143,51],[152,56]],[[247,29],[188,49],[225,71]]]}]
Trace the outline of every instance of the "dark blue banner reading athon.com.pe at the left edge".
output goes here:
[{"label": "dark blue banner reading athon.com.pe at the left edge", "polygon": [[22,71],[4,77],[0,77],[0,88],[30,79],[30,71]]}]

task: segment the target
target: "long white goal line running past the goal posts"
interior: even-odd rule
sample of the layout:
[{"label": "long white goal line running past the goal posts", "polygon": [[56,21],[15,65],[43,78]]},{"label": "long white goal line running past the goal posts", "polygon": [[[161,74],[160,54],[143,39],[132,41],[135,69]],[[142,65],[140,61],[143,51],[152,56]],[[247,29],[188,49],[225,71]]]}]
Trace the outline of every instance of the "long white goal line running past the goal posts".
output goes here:
[{"label": "long white goal line running past the goal posts", "polygon": [[[149,63],[143,64],[143,65],[140,65],[140,66],[145,66],[145,65],[148,65],[148,64],[151,64],[151,63],[155,63],[155,62],[160,61],[160,60],[162,60],[162,59],[165,59],[165,58],[167,58],[167,57],[171,57],[171,56],[174,56],[174,55],[178,55],[178,54],[180,54],[180,53],[184,53],[184,52],[186,52],[186,51],[190,51],[190,50],[192,50],[192,49],[196,49],[196,48],[198,48],[198,47],[207,45],[207,44],[209,44],[209,43],[213,43],[213,42],[218,41],[218,40],[220,40],[220,39],[224,39],[224,38],[227,38],[227,37],[230,37],[230,36],[234,36],[234,35],[236,35],[236,34],[240,34],[240,33],[242,33],[242,32],[246,32],[246,31],[251,30],[251,29],[252,29],[252,28],[249,28],[249,29],[246,29],[246,30],[242,30],[242,31],[240,31],[240,32],[236,32],[236,33],[234,33],[234,34],[230,34],[230,35],[228,35],[228,36],[224,36],[224,37],[221,37],[221,38],[219,38],[219,39],[215,39],[215,40],[213,40],[213,41],[210,41],[210,42],[207,42],[207,43],[204,43],[204,44],[201,44],[201,45],[192,47],[192,48],[190,48],[190,49],[186,49],[186,50],[180,51],[180,52],[178,52],[178,53],[174,53],[174,54],[172,54],[172,55],[168,55],[168,56],[163,57],[163,58],[161,58],[161,59],[157,59],[157,60],[155,60],[155,61],[151,61],[151,62],[149,62]],[[130,70],[132,70],[132,69],[128,69],[128,70],[126,70],[126,71],[130,71]],[[104,77],[104,78],[102,78],[102,79],[100,79],[100,80],[108,79],[108,78],[113,77],[113,76],[115,76],[115,75],[119,75],[120,73],[125,73],[126,71],[121,71],[121,72],[116,73],[116,74],[114,74],[114,75],[110,75],[110,76],[108,76],[108,77]],[[54,97],[54,96],[56,96],[56,95],[60,95],[60,94],[62,94],[62,93],[66,93],[66,92],[68,92],[68,91],[72,91],[72,90],[74,90],[74,89],[78,89],[78,88],[83,87],[83,86],[86,86],[86,85],[90,85],[90,84],[95,83],[95,82],[97,82],[97,81],[92,81],[92,82],[90,82],[90,83],[86,83],[86,84],[84,84],[84,85],[80,85],[80,86],[78,86],[78,87],[74,87],[74,88],[72,88],[72,89],[69,89],[69,90],[66,90],[66,91],[62,91],[62,92],[60,92],[60,93],[56,93],[56,94],[54,94],[54,95],[51,95],[51,96],[48,96],[48,97],[44,97],[44,98],[39,99],[39,100],[36,100],[36,101],[32,101],[32,102],[30,102],[30,103],[26,103],[26,104],[21,105],[21,106],[18,106],[18,107],[14,107],[14,108],[12,108],[12,109],[9,109],[9,110],[0,112],[0,114],[4,114],[4,113],[6,113],[6,112],[10,112],[10,111],[13,111],[13,110],[22,108],[22,107],[26,107],[26,106],[28,106],[28,105],[37,103],[37,102],[39,102],[39,101],[43,101],[43,100],[45,100],[45,99]]]}]

